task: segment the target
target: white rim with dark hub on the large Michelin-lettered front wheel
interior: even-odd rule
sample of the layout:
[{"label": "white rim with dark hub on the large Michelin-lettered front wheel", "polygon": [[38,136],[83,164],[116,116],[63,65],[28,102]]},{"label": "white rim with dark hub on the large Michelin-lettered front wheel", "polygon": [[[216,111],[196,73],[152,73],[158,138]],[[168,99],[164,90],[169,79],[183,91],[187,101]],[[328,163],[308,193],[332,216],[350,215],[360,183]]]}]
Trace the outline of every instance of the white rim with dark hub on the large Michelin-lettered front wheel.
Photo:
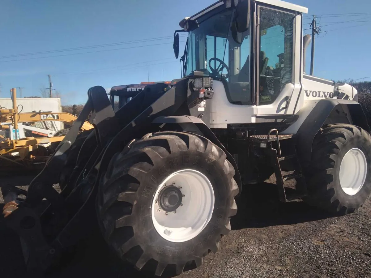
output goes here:
[{"label": "white rim with dark hub on the large Michelin-lettered front wheel", "polygon": [[[166,212],[161,197],[169,186],[177,187],[182,195],[181,205]],[[173,207],[173,209],[176,206]],[[166,208],[168,209],[168,208]],[[210,180],[196,170],[174,172],[157,188],[152,201],[151,216],[156,231],[171,242],[189,241],[209,223],[214,210],[214,190]]]}]

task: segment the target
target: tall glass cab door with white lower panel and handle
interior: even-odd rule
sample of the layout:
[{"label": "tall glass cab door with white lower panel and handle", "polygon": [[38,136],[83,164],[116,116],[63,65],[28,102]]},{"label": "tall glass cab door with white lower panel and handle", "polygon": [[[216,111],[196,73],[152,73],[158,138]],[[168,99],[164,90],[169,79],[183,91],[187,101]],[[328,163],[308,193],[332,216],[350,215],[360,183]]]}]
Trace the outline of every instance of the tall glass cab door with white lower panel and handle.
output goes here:
[{"label": "tall glass cab door with white lower panel and handle", "polygon": [[294,111],[301,88],[300,16],[296,12],[258,6],[257,121],[283,119]]}]

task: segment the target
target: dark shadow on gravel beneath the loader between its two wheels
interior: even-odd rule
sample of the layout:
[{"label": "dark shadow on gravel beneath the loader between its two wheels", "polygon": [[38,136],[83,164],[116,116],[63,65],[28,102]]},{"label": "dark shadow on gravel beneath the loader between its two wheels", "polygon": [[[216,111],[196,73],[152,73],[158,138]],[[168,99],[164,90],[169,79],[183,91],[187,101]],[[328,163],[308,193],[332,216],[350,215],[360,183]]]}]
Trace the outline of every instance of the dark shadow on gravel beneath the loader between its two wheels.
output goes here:
[{"label": "dark shadow on gravel beneath the loader between its two wheels", "polygon": [[281,202],[276,185],[271,183],[242,187],[236,203],[237,215],[231,218],[232,230],[291,225],[334,217],[301,200]]}]

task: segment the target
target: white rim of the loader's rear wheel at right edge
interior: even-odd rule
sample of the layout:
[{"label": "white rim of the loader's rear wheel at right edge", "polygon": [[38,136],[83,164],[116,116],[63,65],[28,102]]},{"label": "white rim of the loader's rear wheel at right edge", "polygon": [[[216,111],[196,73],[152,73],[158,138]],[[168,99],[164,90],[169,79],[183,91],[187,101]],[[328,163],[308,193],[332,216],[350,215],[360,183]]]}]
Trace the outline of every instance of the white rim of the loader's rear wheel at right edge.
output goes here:
[{"label": "white rim of the loader's rear wheel at right edge", "polygon": [[367,176],[367,160],[363,151],[352,148],[343,157],[340,164],[340,185],[348,195],[355,195],[361,190]]}]

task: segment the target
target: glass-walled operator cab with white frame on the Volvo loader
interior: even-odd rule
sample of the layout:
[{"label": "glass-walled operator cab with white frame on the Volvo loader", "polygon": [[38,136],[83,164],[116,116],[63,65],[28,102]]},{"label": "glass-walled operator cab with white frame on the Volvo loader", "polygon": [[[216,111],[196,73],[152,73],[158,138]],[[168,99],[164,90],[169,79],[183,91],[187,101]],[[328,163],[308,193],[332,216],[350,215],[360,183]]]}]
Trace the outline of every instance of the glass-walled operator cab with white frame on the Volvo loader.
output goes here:
[{"label": "glass-walled operator cab with white frame on the Volvo loader", "polygon": [[[209,127],[256,122],[259,114],[292,114],[296,100],[289,99],[300,90],[294,86],[300,75],[294,58],[301,53],[301,17],[307,11],[279,0],[225,0],[179,23],[184,30],[175,33],[188,32],[184,76],[201,71],[214,79],[214,98],[206,103]],[[241,22],[247,22],[244,30]]]}]

